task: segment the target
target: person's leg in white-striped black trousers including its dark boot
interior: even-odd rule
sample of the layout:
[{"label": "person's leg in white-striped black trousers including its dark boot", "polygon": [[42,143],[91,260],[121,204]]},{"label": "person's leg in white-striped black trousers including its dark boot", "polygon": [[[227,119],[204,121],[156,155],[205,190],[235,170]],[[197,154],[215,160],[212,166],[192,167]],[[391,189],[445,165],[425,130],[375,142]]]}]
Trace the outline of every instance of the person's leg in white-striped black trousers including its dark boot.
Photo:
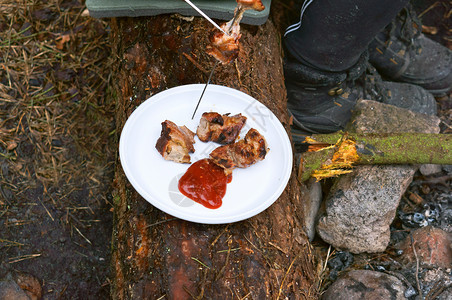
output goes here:
[{"label": "person's leg in white-striped black trousers including its dark boot", "polygon": [[288,108],[298,128],[322,133],[343,129],[358,99],[436,113],[435,99],[424,89],[386,84],[376,72],[365,76],[369,43],[407,2],[305,2],[300,23],[290,26],[284,39]]}]

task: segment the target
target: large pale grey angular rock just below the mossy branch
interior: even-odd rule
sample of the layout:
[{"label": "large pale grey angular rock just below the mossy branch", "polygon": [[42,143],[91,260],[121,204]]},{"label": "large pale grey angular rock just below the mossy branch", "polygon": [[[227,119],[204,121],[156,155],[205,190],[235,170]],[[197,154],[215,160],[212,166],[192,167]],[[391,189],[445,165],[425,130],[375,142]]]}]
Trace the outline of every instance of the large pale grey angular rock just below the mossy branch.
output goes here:
[{"label": "large pale grey angular rock just below the mossy branch", "polygon": [[414,172],[408,166],[362,166],[342,177],[325,203],[317,225],[320,237],[355,254],[384,251],[389,225]]}]

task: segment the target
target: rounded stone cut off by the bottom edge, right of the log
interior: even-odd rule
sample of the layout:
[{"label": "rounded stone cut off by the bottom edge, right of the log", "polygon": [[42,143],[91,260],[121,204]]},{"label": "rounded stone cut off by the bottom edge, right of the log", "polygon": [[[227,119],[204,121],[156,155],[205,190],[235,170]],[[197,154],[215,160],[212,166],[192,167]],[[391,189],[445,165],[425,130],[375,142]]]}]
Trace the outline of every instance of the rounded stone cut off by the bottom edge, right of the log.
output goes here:
[{"label": "rounded stone cut off by the bottom edge, right of the log", "polygon": [[371,270],[341,275],[322,295],[322,300],[402,300],[406,286],[398,278]]}]

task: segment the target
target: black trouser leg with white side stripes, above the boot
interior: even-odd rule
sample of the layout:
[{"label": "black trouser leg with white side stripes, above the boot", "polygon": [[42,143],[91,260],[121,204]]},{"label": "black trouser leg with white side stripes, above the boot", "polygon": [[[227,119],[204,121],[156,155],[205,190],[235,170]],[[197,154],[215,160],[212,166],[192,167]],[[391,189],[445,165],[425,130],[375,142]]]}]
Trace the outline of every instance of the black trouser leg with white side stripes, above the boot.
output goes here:
[{"label": "black trouser leg with white side stripes, above the boot", "polygon": [[408,0],[307,0],[300,22],[284,35],[298,61],[323,70],[352,67]]}]

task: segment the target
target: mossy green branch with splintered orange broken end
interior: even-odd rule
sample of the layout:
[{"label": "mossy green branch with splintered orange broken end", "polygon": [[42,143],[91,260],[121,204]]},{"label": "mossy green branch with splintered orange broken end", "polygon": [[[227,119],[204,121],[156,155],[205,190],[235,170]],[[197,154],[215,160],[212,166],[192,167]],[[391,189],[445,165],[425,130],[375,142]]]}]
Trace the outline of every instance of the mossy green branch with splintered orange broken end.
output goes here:
[{"label": "mossy green branch with splintered orange broken end", "polygon": [[352,172],[354,165],[452,164],[452,135],[338,132],[306,138],[298,179],[317,180]]}]

